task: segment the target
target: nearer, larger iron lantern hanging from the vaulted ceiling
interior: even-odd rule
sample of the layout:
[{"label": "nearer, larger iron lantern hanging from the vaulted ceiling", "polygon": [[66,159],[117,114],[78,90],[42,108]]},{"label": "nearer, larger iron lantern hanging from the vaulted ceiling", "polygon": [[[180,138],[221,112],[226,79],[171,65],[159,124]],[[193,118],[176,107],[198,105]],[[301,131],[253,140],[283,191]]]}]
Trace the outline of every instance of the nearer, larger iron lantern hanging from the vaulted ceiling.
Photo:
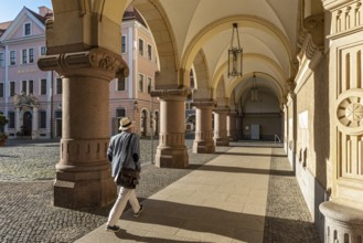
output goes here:
[{"label": "nearer, larger iron lantern hanging from the vaulted ceiling", "polygon": [[242,76],[243,49],[239,44],[238,24],[233,23],[231,47],[228,49],[228,77]]}]

